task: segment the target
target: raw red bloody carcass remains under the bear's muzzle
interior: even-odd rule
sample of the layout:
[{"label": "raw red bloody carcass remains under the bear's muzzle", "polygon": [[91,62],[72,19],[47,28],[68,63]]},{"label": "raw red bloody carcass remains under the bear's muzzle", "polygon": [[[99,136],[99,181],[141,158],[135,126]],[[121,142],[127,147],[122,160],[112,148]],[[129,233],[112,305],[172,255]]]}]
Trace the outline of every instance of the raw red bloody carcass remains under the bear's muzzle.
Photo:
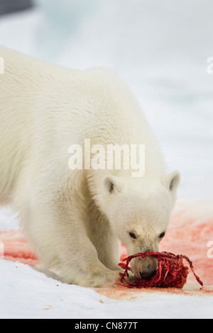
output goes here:
[{"label": "raw red bloody carcass remains under the bear's muzzle", "polygon": [[[129,267],[129,262],[131,259],[139,256],[139,259],[142,260],[146,256],[152,256],[158,259],[158,269],[157,273],[153,278],[134,278],[128,279],[129,273],[131,268]],[[183,259],[185,259],[189,264],[192,272],[201,286],[203,286],[202,281],[194,272],[194,267],[192,265],[192,261],[190,261],[187,256],[177,255],[170,253],[170,252],[145,252],[145,253],[138,253],[134,254],[133,256],[129,256],[128,258],[124,259],[126,264],[121,263],[122,269],[124,269],[124,273],[120,273],[121,276],[121,286],[126,286],[128,288],[183,288],[187,281],[187,275],[189,273],[189,269],[187,266],[184,266]],[[119,284],[119,283],[116,283]]]}]

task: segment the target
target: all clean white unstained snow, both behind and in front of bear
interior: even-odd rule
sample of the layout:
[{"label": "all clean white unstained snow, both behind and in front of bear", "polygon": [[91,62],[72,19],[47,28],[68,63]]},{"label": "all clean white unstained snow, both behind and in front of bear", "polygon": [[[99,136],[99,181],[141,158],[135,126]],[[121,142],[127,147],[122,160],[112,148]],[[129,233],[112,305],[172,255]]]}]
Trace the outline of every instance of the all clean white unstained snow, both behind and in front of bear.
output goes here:
[{"label": "all clean white unstained snow, both behind and in front of bear", "polygon": [[[72,68],[113,69],[141,102],[168,170],[180,170],[178,196],[213,198],[212,1],[94,0],[84,12],[85,0],[53,1],[51,13],[39,0],[40,8],[1,16],[0,44]],[[0,230],[17,227],[9,208],[1,210]],[[132,295],[109,298],[0,259],[1,318],[213,317],[210,295]]]}]

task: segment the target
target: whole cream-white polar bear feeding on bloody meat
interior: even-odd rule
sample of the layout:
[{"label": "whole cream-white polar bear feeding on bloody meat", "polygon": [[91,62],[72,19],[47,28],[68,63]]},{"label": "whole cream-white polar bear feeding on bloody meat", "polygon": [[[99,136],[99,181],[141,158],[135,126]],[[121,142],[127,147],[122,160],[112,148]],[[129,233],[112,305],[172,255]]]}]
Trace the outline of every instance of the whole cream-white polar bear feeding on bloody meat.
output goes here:
[{"label": "whole cream-white polar bear feeding on bloody meat", "polygon": [[[168,174],[141,106],[116,74],[66,69],[5,47],[0,57],[1,204],[18,212],[40,261],[62,281],[114,286],[120,242],[129,255],[158,250],[180,174]],[[85,139],[102,147],[144,145],[145,173],[133,177],[131,166],[70,169],[69,147]],[[138,278],[156,268],[153,258],[132,264]]]}]

